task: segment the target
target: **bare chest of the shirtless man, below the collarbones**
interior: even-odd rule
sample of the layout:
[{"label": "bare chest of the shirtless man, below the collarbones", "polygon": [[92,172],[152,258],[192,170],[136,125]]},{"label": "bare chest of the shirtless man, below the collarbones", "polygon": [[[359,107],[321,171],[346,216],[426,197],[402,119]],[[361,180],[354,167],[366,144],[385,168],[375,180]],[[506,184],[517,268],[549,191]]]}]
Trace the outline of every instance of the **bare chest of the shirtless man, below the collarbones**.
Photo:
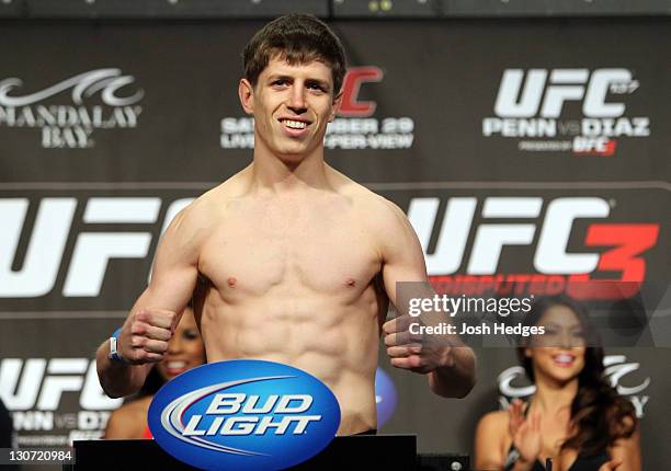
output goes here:
[{"label": "bare chest of the shirtless man, below the collarbones", "polygon": [[234,211],[201,254],[201,272],[230,301],[239,296],[363,290],[379,271],[372,236],[341,205]]}]

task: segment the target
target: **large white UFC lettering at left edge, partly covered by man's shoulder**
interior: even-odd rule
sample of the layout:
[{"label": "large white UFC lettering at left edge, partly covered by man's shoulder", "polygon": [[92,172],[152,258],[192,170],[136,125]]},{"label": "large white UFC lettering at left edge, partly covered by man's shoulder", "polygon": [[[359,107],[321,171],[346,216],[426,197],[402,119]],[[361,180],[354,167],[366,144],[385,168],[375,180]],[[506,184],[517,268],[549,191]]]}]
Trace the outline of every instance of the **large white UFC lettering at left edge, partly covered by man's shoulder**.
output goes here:
[{"label": "large white UFC lettering at left edge, partly covered by man's shoulder", "polygon": [[[162,231],[193,198],[171,202]],[[146,259],[152,233],[149,231],[76,232],[72,230],[78,200],[46,197],[38,204],[20,267],[14,267],[19,242],[27,221],[27,198],[0,198],[0,298],[36,298],[50,294],[61,268],[67,267],[64,297],[96,297],[110,262],[114,259]],[[91,197],[82,220],[87,225],[155,225],[162,200],[159,197]],[[71,259],[64,260],[66,245],[76,238]]]}]

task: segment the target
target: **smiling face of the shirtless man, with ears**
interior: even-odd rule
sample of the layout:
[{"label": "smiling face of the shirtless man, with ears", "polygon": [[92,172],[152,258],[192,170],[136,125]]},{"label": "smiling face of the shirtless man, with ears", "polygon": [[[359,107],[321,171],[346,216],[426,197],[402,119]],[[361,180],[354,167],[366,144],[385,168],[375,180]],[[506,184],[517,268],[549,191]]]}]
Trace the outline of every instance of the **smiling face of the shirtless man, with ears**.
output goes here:
[{"label": "smiling face of the shirtless man, with ears", "polygon": [[295,162],[323,146],[340,101],[333,97],[329,66],[317,60],[291,66],[277,56],[255,87],[242,79],[239,92],[244,111],[254,116],[254,146]]}]

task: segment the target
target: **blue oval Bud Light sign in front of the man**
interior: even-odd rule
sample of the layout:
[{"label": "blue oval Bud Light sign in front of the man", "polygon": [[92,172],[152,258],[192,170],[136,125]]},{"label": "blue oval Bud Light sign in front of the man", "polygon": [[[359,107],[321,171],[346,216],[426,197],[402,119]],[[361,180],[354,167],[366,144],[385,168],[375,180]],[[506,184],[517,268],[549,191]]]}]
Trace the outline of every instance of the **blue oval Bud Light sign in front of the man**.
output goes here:
[{"label": "blue oval Bud Light sign in front of the man", "polygon": [[319,453],[340,406],[307,372],[261,360],[203,365],[168,382],[149,428],[168,453],[206,470],[280,470]]}]

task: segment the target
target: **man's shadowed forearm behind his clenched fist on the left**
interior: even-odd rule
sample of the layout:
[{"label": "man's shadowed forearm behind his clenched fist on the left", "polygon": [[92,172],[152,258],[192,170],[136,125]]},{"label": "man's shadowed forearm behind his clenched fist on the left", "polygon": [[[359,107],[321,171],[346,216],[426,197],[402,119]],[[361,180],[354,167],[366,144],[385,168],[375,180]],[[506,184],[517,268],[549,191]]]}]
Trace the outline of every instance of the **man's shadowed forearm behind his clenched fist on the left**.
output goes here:
[{"label": "man's shadowed forearm behind his clenched fist on the left", "polygon": [[112,361],[107,354],[110,340],[106,340],[95,354],[98,378],[103,391],[110,398],[121,398],[137,392],[147,378],[151,365],[126,365]]}]

